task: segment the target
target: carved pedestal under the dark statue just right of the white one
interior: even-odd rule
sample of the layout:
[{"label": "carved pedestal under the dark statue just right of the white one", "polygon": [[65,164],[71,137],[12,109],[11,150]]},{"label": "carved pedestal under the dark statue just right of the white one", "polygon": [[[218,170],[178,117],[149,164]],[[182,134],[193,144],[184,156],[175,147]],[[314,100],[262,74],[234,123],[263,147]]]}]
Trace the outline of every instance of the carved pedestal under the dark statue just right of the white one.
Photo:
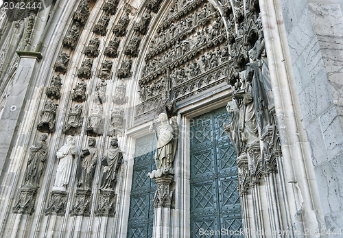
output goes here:
[{"label": "carved pedestal under the dark statue just right of the white one", "polygon": [[91,215],[92,191],[77,189],[75,194],[75,202],[71,208],[71,215],[81,215],[89,217]]}]

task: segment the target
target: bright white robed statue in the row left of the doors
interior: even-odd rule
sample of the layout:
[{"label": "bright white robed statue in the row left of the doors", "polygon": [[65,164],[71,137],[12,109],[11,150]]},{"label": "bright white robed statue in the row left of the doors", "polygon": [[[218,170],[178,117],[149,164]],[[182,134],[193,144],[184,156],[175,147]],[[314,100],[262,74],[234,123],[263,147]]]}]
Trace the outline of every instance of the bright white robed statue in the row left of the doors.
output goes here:
[{"label": "bright white robed statue in the row left of the doors", "polygon": [[73,156],[75,156],[75,141],[73,136],[67,136],[66,143],[56,152],[56,156],[60,159],[57,166],[56,178],[53,190],[66,191],[73,167]]}]

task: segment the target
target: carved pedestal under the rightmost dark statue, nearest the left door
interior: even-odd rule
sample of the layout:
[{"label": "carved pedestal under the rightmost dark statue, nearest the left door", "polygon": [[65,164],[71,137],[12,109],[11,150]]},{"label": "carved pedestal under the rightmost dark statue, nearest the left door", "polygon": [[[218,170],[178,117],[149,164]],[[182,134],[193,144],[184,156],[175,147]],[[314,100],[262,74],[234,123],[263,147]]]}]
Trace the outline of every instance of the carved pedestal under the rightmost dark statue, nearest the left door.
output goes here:
[{"label": "carved pedestal under the rightmost dark statue, nearest the left door", "polygon": [[99,204],[95,215],[97,217],[114,217],[115,216],[115,202],[117,195],[113,190],[100,190]]}]

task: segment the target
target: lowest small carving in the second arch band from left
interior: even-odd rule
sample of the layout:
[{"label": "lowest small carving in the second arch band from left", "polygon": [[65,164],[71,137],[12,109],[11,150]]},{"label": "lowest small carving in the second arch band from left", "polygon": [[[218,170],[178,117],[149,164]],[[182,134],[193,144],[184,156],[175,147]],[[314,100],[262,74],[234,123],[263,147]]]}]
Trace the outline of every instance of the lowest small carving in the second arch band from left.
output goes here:
[{"label": "lowest small carving in the second arch band from left", "polygon": [[77,134],[80,132],[82,126],[82,104],[75,104],[71,106],[67,117],[66,125],[64,126],[64,132],[66,134]]}]

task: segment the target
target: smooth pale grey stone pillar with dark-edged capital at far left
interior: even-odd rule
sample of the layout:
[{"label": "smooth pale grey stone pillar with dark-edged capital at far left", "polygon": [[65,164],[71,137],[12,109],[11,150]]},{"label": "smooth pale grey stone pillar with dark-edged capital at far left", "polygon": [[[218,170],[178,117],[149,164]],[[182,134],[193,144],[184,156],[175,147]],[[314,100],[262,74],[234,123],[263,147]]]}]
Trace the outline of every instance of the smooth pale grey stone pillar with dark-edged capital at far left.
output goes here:
[{"label": "smooth pale grey stone pillar with dark-edged capital at far left", "polygon": [[38,52],[17,51],[17,53],[21,60],[0,120],[0,177],[5,165],[9,163],[8,159],[16,140],[14,134],[21,123],[19,118],[25,108],[25,98],[29,93],[34,68],[42,58]]}]

